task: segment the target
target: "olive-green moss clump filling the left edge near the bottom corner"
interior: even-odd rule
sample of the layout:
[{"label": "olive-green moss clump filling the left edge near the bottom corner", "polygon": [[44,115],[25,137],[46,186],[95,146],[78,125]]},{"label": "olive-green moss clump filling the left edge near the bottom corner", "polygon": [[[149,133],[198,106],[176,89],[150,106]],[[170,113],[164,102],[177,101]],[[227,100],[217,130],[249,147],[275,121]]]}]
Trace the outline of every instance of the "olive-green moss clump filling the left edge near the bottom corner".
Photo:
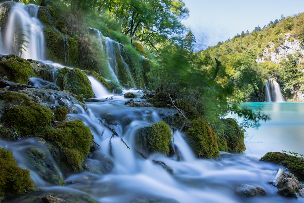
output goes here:
[{"label": "olive-green moss clump filling the left edge near the bottom corner", "polygon": [[12,152],[0,148],[0,199],[36,190],[29,170],[17,165]]}]

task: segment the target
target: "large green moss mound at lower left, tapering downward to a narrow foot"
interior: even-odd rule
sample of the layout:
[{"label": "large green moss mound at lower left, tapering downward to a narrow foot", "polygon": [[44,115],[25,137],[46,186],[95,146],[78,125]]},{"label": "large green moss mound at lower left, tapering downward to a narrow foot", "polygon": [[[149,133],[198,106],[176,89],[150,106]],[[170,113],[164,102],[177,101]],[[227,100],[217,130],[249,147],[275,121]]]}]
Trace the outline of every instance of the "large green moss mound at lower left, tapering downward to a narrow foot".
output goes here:
[{"label": "large green moss mound at lower left, tapering downward to a narrow foot", "polygon": [[82,170],[81,163],[88,156],[93,140],[90,128],[82,121],[64,123],[59,129],[48,130],[44,137],[57,144],[71,172]]}]

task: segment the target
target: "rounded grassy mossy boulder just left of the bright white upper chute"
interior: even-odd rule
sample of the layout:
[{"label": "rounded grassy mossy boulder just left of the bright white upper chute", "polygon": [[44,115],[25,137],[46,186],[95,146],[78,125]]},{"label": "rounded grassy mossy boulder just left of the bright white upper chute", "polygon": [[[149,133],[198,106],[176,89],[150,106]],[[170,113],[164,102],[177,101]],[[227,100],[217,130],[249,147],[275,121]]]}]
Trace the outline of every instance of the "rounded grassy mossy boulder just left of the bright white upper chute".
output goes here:
[{"label": "rounded grassy mossy boulder just left of the bright white upper chute", "polygon": [[61,68],[57,72],[56,85],[62,90],[73,94],[80,94],[84,98],[93,98],[94,92],[87,75],[79,68]]}]

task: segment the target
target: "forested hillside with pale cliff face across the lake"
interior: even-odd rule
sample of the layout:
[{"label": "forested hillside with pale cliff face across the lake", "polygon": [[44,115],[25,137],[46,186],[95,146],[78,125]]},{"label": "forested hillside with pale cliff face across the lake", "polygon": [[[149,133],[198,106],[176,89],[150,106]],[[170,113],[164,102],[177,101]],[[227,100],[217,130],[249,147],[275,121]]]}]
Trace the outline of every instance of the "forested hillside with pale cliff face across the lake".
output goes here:
[{"label": "forested hillside with pale cliff face across the lake", "polygon": [[281,16],[263,28],[219,42],[195,54],[202,70],[214,66],[212,58],[222,61],[216,78],[232,88],[230,101],[265,101],[268,78],[276,80],[288,101],[303,100],[303,30],[304,14]]}]

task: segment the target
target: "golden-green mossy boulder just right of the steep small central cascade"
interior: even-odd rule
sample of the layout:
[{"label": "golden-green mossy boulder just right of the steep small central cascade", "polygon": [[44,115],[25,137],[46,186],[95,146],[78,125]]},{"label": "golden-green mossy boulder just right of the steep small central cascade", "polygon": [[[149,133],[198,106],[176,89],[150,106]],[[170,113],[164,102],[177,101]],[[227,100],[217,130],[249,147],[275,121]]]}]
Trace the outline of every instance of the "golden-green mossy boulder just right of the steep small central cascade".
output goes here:
[{"label": "golden-green mossy boulder just right of the steep small central cascade", "polygon": [[201,119],[191,121],[189,126],[185,133],[195,155],[199,158],[218,157],[217,136],[210,126]]}]

